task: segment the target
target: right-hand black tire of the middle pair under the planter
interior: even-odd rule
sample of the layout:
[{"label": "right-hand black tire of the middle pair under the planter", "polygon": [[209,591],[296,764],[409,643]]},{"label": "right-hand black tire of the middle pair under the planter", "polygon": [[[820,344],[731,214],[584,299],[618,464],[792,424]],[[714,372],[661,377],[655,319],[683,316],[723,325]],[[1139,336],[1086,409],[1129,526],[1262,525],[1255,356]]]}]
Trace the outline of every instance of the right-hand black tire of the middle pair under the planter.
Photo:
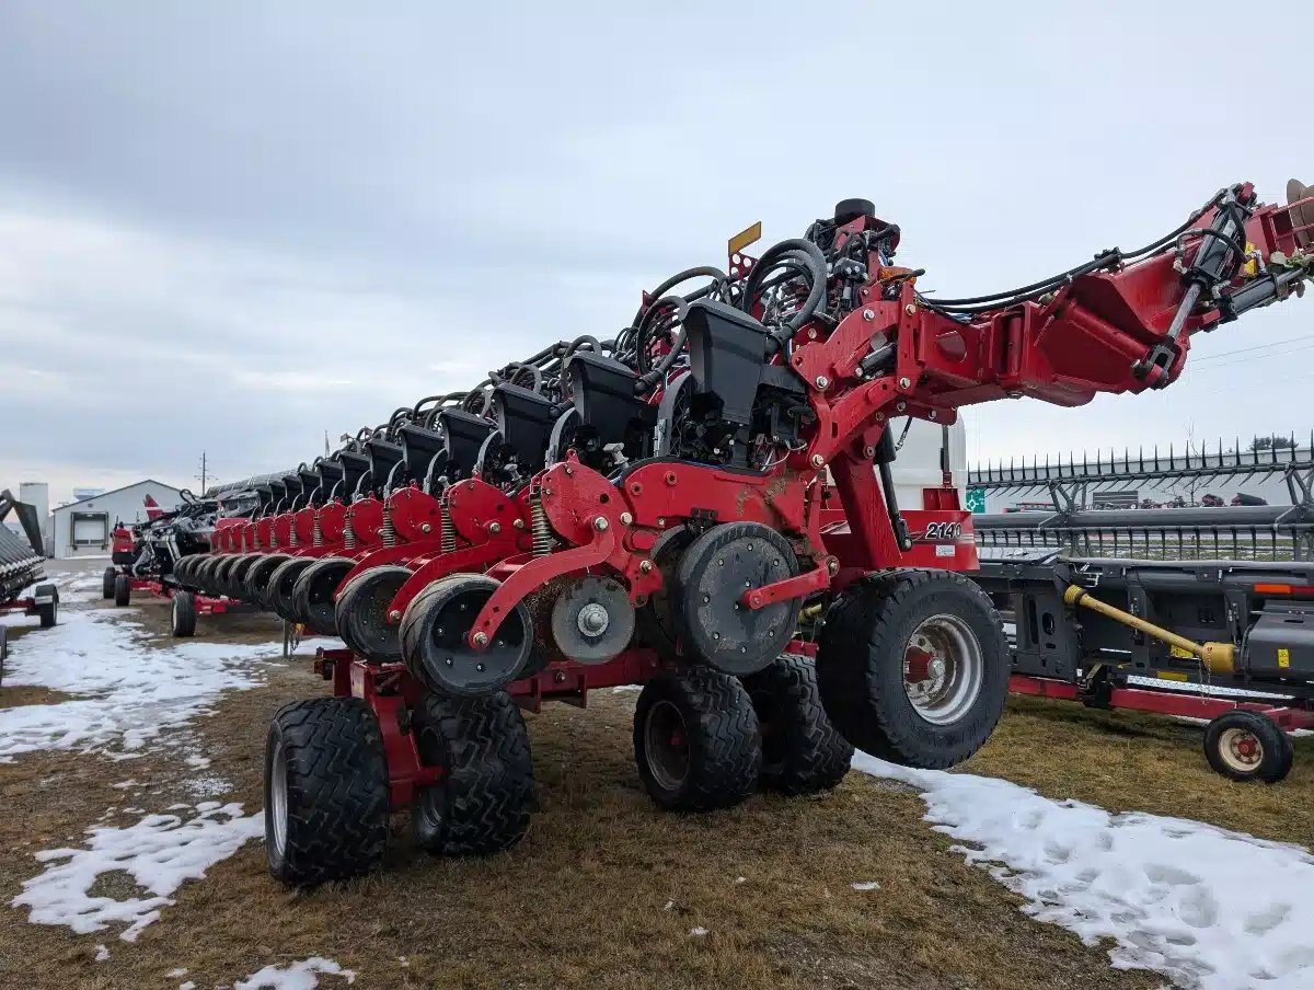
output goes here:
[{"label": "right-hand black tire of the middle pair under the planter", "polygon": [[815,794],[844,780],[853,743],[821,705],[817,673],[805,656],[782,656],[744,678],[762,732],[762,786],[782,794]]}]

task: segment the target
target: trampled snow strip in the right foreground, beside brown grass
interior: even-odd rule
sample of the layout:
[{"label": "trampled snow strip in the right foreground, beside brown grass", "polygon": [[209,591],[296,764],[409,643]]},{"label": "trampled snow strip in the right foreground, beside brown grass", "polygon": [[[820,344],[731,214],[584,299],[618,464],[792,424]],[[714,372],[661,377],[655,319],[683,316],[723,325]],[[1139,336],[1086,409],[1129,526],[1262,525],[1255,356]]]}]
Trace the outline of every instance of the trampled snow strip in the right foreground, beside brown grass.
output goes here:
[{"label": "trampled snow strip in the right foreground, beside brown grass", "polygon": [[991,777],[913,770],[866,753],[853,766],[911,784],[926,819],[1024,910],[1120,969],[1200,990],[1314,987],[1314,856],[1300,845],[1180,818],[1110,814]]}]

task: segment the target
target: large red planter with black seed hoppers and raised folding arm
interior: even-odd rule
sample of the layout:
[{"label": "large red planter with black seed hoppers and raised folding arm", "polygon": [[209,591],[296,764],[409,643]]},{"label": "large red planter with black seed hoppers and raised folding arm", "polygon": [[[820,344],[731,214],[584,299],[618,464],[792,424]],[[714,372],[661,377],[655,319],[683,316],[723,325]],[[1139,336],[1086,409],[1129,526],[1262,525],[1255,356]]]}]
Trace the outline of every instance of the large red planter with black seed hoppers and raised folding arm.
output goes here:
[{"label": "large red planter with black seed hoppers and raised folding arm", "polygon": [[[1009,653],[949,479],[897,505],[890,421],[1163,388],[1192,334],[1298,292],[1314,199],[1219,191],[1135,251],[1013,292],[925,296],[865,200],[728,271],[357,434],[188,565],[347,643],[281,710],[269,866],[373,869],[388,814],[461,855],[524,834],[519,710],[641,684],[648,793],[685,811],[833,786],[851,744],[950,766],[993,730]],[[699,279],[683,295],[677,287]],[[332,611],[330,613],[330,606]],[[813,660],[815,657],[815,660]]]}]

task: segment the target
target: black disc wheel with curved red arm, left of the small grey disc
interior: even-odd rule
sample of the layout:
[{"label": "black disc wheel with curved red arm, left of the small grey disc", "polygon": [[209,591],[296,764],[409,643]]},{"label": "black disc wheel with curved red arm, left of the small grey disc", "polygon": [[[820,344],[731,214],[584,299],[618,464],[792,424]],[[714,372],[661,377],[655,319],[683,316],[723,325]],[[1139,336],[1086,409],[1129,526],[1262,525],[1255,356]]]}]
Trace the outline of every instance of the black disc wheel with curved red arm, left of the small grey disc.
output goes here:
[{"label": "black disc wheel with curved red arm, left of the small grey disc", "polygon": [[476,697],[501,690],[524,671],[533,648],[533,623],[519,602],[484,649],[466,634],[498,582],[484,575],[452,575],[418,594],[402,617],[402,659],[430,690]]}]

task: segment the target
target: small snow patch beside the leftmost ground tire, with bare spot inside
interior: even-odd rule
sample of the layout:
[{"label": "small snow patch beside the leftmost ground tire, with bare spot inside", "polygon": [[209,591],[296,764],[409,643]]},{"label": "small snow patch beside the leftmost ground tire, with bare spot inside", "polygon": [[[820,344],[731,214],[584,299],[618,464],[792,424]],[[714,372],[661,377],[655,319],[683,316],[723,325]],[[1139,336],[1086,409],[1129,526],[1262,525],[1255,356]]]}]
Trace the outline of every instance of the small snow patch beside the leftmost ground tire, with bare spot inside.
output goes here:
[{"label": "small snow patch beside the leftmost ground tire, with bare spot inside", "polygon": [[[67,924],[79,935],[126,923],[120,939],[134,941],[184,881],[200,880],[205,870],[226,860],[264,832],[264,815],[242,815],[242,805],[202,802],[196,815],[147,815],[127,828],[88,828],[81,849],[46,849],[35,853],[46,869],[24,881],[11,903],[30,908],[33,924]],[[146,895],[122,899],[92,895],[101,874],[127,874]]]}]

